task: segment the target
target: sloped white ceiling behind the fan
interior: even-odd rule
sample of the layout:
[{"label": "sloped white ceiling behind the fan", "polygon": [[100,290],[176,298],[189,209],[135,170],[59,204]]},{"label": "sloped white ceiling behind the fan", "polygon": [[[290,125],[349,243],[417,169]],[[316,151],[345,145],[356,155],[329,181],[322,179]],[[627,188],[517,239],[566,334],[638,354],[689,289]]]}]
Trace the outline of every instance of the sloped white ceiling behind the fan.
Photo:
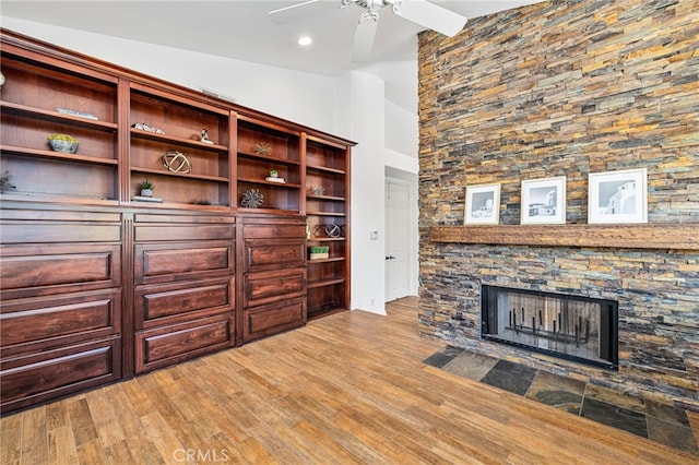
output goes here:
[{"label": "sloped white ceiling behind the fan", "polygon": [[[403,0],[411,1],[411,0]],[[466,17],[537,3],[540,0],[433,0]],[[352,44],[362,9],[340,9],[340,0],[321,0],[317,14],[291,24],[274,24],[268,12],[303,0],[208,1],[36,1],[2,0],[2,16],[110,35],[237,60],[329,76],[350,70],[378,75],[387,99],[417,112],[417,33],[414,23],[380,12],[368,62],[352,62]],[[303,48],[296,40],[310,35]]]}]

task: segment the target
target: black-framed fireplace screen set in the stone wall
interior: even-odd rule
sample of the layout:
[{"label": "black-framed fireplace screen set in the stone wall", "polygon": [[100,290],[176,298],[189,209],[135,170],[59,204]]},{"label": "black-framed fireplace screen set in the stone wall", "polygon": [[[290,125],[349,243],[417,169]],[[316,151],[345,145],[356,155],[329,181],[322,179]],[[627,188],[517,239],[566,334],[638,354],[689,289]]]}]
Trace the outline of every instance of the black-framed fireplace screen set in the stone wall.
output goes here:
[{"label": "black-framed fireplace screen set in the stone wall", "polygon": [[581,296],[482,287],[481,334],[584,363],[618,366],[618,303]]}]

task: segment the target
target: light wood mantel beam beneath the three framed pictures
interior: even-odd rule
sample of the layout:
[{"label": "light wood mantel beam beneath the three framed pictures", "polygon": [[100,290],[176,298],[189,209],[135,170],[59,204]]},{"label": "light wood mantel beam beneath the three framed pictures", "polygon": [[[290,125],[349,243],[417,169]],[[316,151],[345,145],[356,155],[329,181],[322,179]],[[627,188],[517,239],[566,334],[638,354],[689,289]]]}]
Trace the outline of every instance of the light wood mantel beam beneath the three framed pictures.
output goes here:
[{"label": "light wood mantel beam beneath the three framed pictures", "polygon": [[494,246],[699,250],[699,225],[433,226],[433,242]]}]

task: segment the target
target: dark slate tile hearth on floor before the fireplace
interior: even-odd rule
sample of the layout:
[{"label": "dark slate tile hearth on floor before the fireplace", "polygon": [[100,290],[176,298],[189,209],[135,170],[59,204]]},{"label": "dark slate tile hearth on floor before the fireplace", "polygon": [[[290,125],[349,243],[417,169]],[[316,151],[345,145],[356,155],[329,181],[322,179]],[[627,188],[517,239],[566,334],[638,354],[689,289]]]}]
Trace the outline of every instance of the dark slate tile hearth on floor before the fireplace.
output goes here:
[{"label": "dark slate tile hearth on floor before the fireplace", "polygon": [[423,362],[699,456],[696,413],[452,346]]}]

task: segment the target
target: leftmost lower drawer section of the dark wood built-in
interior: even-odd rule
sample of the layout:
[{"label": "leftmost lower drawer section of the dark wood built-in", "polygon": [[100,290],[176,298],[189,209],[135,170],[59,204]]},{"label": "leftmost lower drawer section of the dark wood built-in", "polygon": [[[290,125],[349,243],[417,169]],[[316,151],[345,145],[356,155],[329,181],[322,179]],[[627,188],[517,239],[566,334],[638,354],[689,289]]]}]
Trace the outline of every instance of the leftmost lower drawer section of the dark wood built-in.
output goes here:
[{"label": "leftmost lower drawer section of the dark wood built-in", "polygon": [[121,378],[121,215],[0,210],[2,412]]}]

